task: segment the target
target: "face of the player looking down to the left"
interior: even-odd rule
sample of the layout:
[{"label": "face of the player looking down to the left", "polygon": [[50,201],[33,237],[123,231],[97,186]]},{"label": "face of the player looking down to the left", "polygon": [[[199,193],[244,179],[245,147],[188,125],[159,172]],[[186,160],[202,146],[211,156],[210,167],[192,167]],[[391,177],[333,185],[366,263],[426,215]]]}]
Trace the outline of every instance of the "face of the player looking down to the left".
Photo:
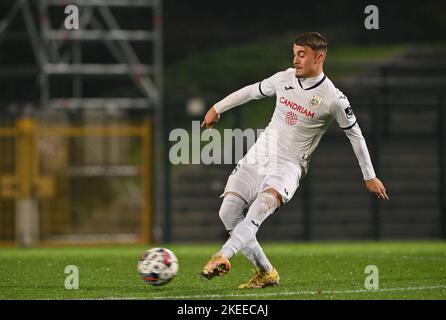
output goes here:
[{"label": "face of the player looking down to the left", "polygon": [[315,77],[321,71],[321,54],[315,53],[313,49],[307,46],[293,46],[293,64],[298,77]]}]

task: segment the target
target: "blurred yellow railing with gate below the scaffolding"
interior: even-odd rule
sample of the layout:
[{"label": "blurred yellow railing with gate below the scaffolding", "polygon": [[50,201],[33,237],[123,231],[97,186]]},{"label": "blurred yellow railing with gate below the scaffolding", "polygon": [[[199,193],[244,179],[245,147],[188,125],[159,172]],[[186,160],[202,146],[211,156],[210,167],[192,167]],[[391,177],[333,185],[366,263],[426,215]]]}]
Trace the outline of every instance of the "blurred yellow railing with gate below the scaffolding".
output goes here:
[{"label": "blurred yellow railing with gate below the scaffolding", "polygon": [[[48,139],[51,142],[51,138],[59,142],[57,147],[54,141],[53,146],[50,143],[50,149],[56,151],[42,152],[40,149],[46,147],[40,142]],[[82,139],[105,139],[104,143],[115,141],[131,147],[128,147],[129,154],[121,152],[118,165],[110,165],[108,159],[94,165],[88,161],[79,163],[79,160],[74,163],[73,159],[82,158],[79,153],[97,151],[94,147],[76,150],[74,142],[79,144]],[[152,239],[151,146],[149,120],[137,125],[64,126],[42,125],[34,119],[21,118],[14,127],[0,128],[0,153],[4,155],[0,155],[0,244],[31,246],[85,242],[85,239],[87,242],[149,242]],[[124,174],[111,174],[123,170]],[[134,199],[122,200],[125,194],[122,196],[120,190],[128,187],[125,182],[118,183],[119,190],[113,189],[124,178],[133,189],[136,187],[136,202],[140,203],[135,204]],[[90,187],[94,188],[93,192]],[[102,207],[98,209],[99,198]],[[114,204],[115,198],[120,202]],[[115,212],[113,217],[111,214],[107,217],[107,205]],[[119,212],[119,206],[132,205],[139,212]],[[95,212],[101,212],[96,219]],[[113,228],[107,229],[106,224],[112,224],[110,221],[114,223]],[[120,229],[125,229],[124,236]]]}]

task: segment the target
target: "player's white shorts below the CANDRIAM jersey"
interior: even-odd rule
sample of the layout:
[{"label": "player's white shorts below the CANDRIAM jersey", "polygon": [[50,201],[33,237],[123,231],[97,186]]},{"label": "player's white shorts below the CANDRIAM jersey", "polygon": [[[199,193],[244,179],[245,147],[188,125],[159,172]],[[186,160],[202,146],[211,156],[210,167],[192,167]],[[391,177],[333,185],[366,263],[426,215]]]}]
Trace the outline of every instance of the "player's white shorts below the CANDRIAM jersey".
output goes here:
[{"label": "player's white shorts below the CANDRIAM jersey", "polygon": [[234,192],[251,205],[260,192],[272,187],[282,196],[283,205],[293,197],[299,187],[299,181],[307,172],[308,161],[294,163],[278,157],[277,163],[268,168],[259,163],[247,163],[243,158],[231,172],[221,197],[226,192]]}]

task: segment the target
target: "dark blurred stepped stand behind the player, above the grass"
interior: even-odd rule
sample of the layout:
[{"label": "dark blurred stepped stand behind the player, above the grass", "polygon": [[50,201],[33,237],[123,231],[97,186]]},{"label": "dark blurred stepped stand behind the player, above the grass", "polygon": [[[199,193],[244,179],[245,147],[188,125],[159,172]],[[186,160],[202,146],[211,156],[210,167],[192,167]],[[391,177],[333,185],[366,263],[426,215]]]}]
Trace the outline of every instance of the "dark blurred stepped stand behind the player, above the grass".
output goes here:
[{"label": "dark blurred stepped stand behind the player, above the grass", "polygon": [[[371,197],[351,145],[333,124],[294,198],[259,231],[268,240],[444,238],[445,49],[409,48],[335,79],[348,96],[390,201]],[[345,68],[345,64],[330,65]],[[443,130],[443,131],[442,131]],[[172,239],[221,240],[221,194],[233,166],[173,170]],[[191,187],[193,185],[193,188]]]}]

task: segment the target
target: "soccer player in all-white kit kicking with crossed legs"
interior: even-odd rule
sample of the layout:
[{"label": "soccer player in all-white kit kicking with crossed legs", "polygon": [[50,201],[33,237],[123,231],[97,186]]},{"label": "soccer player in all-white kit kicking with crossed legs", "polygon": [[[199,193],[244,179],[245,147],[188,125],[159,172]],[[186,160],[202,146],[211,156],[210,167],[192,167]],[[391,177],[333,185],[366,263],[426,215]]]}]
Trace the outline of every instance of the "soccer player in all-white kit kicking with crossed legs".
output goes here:
[{"label": "soccer player in all-white kit kicking with crossed legs", "polygon": [[228,95],[206,113],[201,127],[212,128],[223,112],[253,99],[276,96],[270,123],[226,183],[219,216],[230,237],[204,266],[202,275],[207,279],[226,274],[231,268],[229,259],[241,250],[257,271],[239,288],[279,284],[279,273],[256,233],[269,215],[293,197],[308,171],[311,154],[334,119],[350,140],[368,191],[389,199],[375,175],[348,99],[323,72],[327,48],[327,41],[317,32],[299,35],[293,45],[294,68]]}]

